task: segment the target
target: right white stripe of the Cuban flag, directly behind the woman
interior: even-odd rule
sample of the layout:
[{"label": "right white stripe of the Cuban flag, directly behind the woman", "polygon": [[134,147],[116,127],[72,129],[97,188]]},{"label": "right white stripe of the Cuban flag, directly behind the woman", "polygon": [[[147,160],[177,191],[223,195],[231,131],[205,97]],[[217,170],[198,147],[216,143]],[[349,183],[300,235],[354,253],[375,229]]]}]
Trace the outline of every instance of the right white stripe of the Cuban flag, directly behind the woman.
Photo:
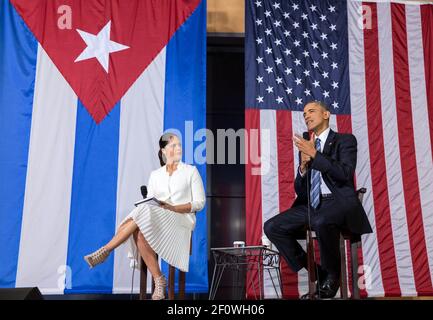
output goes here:
[{"label": "right white stripe of the Cuban flag, directly behind the woman", "polygon": [[[141,199],[140,186],[147,185],[150,172],[160,167],[158,141],[164,129],[164,48],[122,98],[120,106],[119,169],[117,179],[116,229]],[[129,245],[114,256],[113,292],[131,292],[132,268],[127,258]],[[139,253],[136,253],[140,257]],[[136,272],[134,292],[139,290]],[[150,279],[150,273],[148,273]],[[151,291],[148,281],[147,291]]]}]

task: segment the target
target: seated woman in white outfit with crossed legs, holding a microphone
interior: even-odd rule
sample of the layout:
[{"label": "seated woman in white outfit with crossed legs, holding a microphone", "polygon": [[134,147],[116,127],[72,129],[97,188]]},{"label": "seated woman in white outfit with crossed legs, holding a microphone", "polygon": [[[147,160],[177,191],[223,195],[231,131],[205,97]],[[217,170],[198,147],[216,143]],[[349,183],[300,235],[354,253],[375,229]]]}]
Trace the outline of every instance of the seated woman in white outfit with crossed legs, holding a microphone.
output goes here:
[{"label": "seated woman in white outfit with crossed legs, holding a microphone", "polygon": [[179,138],[166,133],[159,140],[159,147],[161,168],[151,172],[147,188],[148,198],[154,197],[162,205],[140,204],[123,220],[116,235],[106,245],[84,257],[92,268],[130,239],[128,256],[135,259],[132,253],[138,248],[155,281],[154,300],[165,298],[167,285],[156,254],[176,268],[188,271],[195,212],[203,209],[206,199],[197,168],[181,161]]}]

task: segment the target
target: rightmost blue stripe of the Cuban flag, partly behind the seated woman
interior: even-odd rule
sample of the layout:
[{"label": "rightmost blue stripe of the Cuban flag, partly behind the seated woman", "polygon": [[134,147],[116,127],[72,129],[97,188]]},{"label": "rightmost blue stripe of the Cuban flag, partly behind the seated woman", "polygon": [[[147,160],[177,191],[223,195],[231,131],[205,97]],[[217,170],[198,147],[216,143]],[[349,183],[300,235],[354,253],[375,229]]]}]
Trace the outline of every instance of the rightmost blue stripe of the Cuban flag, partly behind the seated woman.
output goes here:
[{"label": "rightmost blue stripe of the Cuban flag, partly behind the seated woman", "polygon": [[[165,77],[164,130],[182,133],[184,160],[192,163],[194,130],[206,127],[206,1],[203,0],[189,19],[177,30],[167,45]],[[186,129],[185,121],[193,121]],[[185,138],[187,140],[185,141]],[[206,165],[198,165],[206,187]],[[193,232],[192,256],[186,275],[186,291],[207,292],[207,222],[206,207],[197,213]],[[164,273],[167,265],[163,264]],[[177,282],[176,282],[177,283]]]}]

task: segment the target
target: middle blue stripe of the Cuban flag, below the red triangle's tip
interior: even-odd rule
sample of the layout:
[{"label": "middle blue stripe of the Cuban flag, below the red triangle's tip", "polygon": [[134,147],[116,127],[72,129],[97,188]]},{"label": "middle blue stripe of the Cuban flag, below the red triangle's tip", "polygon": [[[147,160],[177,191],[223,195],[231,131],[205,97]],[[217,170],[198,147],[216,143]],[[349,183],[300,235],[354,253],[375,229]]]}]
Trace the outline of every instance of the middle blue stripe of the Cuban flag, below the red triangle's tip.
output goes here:
[{"label": "middle blue stripe of the Cuban flag, below the red triangle's tip", "polygon": [[116,226],[120,103],[97,125],[78,102],[65,293],[111,293],[114,255],[89,269],[83,256],[106,244]]}]

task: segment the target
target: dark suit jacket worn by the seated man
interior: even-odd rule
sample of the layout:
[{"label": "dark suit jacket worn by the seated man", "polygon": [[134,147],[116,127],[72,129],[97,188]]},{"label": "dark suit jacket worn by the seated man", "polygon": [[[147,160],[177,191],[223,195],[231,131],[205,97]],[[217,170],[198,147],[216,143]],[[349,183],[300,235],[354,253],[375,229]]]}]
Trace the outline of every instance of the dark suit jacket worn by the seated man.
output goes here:
[{"label": "dark suit jacket worn by the seated man", "polygon": [[[322,173],[323,181],[334,195],[339,205],[344,207],[343,227],[356,234],[371,233],[371,226],[355,191],[354,173],[356,167],[357,142],[352,134],[329,131],[323,152],[317,152],[309,164],[311,169]],[[292,207],[307,204],[308,175],[298,175],[295,179],[297,198]]]}]

